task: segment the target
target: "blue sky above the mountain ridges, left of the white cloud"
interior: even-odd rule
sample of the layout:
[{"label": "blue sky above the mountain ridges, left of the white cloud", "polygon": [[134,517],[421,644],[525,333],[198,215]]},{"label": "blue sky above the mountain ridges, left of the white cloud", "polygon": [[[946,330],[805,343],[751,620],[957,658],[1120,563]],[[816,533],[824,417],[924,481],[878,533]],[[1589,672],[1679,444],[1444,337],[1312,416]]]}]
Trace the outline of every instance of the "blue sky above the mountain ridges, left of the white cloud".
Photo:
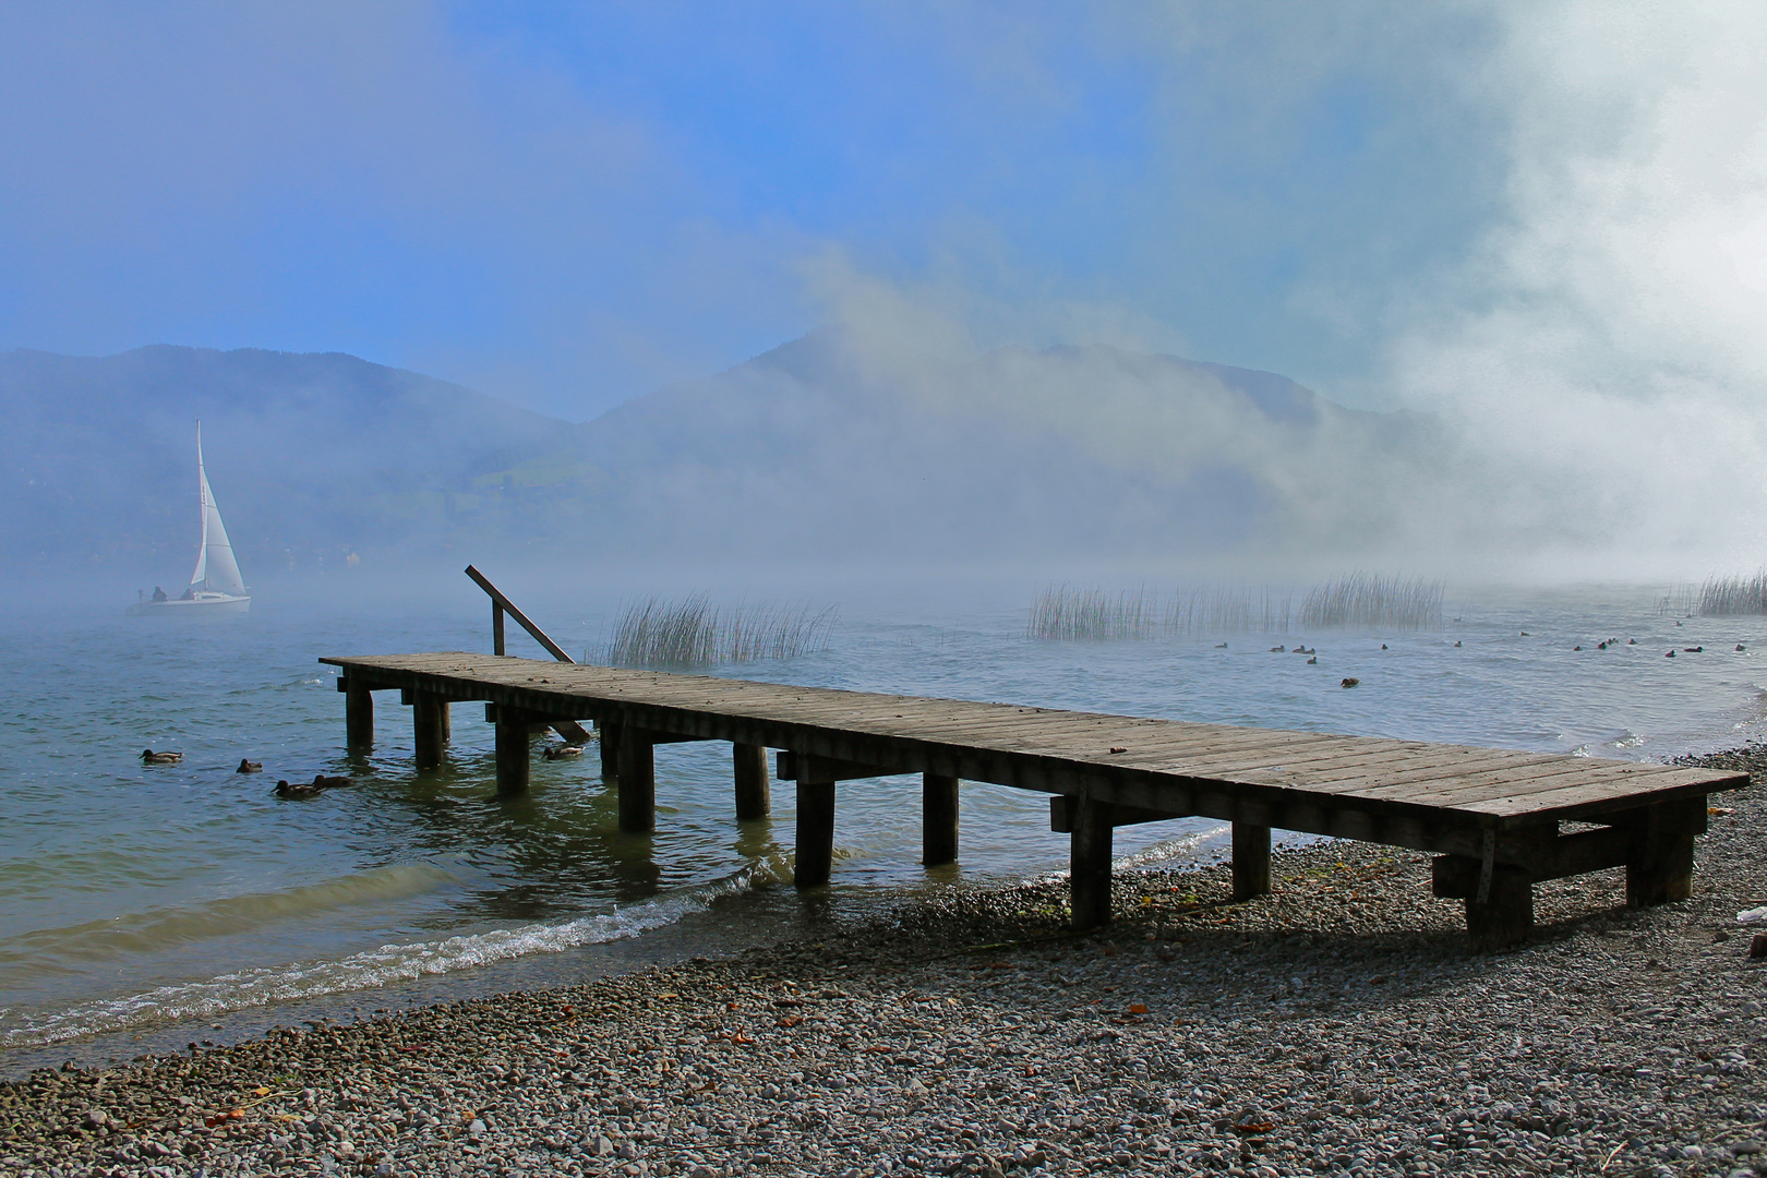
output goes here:
[{"label": "blue sky above the mountain ridges, left of the white cloud", "polygon": [[0,346],[585,419],[884,283],[1387,404],[1399,295],[1507,212],[1502,12],[1421,9],[0,5]]}]

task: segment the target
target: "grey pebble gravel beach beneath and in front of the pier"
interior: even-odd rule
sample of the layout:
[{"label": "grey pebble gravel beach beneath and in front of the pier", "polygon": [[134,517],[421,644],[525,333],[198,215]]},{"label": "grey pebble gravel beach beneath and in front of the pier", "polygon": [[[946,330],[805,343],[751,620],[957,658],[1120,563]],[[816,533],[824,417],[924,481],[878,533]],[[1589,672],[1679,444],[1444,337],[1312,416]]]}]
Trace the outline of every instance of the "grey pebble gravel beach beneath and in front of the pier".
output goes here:
[{"label": "grey pebble gravel beach beneath and in front of the pier", "polygon": [[[1767,770],[1767,749],[1705,763]],[[735,959],[0,1084],[19,1174],[1767,1173],[1767,802],[1689,901],[1541,885],[1472,954],[1428,857],[1279,848],[836,911]],[[820,913],[818,913],[820,910]],[[1756,925],[1758,927],[1758,925]]]}]

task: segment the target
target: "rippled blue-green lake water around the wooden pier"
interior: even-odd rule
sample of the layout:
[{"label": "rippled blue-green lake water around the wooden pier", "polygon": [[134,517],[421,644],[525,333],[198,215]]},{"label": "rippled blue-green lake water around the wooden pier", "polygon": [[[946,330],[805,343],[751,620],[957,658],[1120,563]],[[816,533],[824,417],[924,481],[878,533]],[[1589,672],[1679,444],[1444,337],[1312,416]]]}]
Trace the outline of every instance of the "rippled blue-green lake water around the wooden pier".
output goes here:
[{"label": "rippled blue-green lake water around the wooden pier", "polygon": [[[1437,632],[1113,643],[1027,638],[1034,588],[963,604],[931,593],[839,600],[827,650],[717,673],[1634,759],[1739,745],[1767,722],[1755,650],[1767,650],[1767,623],[1657,613],[1650,586],[1451,592],[1458,620]],[[613,604],[534,613],[567,650],[585,650]],[[231,618],[104,611],[7,625],[9,1070],[133,1054],[173,1031],[182,1046],[189,1026],[585,977],[804,918],[786,883],[792,788],[776,784],[772,819],[739,827],[728,745],[657,751],[654,837],[617,830],[594,754],[535,758],[532,795],[495,800],[482,705],[456,705],[449,763],[419,774],[410,714],[380,694],[373,754],[346,758],[343,696],[316,659],[488,650],[482,597],[295,608],[260,593],[253,613]],[[1594,650],[1610,638],[1620,645]],[[1297,639],[1318,650],[1316,666],[1269,650]],[[1686,646],[1705,650],[1663,657]],[[1343,676],[1361,685],[1345,691]],[[143,766],[143,747],[178,749],[184,761]],[[235,774],[242,756],[265,772]],[[309,802],[272,797],[277,777],[316,772],[348,774],[353,786]],[[816,902],[1066,865],[1066,835],[1048,830],[1041,795],[967,784],[961,865],[933,872],[917,865],[917,779],[843,784],[836,883]],[[1212,855],[1221,835],[1200,819],[1131,827],[1119,853]]]}]

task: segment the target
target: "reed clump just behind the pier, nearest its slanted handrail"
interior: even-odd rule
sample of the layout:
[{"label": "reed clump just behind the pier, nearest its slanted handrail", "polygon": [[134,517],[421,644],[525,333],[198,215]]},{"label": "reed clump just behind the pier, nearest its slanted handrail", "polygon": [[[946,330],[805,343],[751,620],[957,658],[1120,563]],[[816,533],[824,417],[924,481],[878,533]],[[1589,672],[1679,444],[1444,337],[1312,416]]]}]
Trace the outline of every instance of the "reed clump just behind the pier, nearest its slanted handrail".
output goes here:
[{"label": "reed clump just behind the pier, nearest its slanted handrail", "polygon": [[633,668],[793,659],[827,650],[834,622],[832,606],[717,608],[705,593],[682,599],[652,593],[620,611],[604,657],[611,666]]}]

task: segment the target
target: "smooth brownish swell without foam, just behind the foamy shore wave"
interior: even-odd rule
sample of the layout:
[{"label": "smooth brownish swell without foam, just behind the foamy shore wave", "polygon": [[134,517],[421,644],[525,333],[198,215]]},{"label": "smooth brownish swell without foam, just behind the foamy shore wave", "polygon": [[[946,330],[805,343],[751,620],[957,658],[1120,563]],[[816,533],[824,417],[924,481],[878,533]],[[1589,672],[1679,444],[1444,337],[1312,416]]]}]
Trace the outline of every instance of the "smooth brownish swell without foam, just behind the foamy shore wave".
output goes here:
[{"label": "smooth brownish swell without foam, just behind the foamy shore wave", "polygon": [[62,929],[37,929],[0,943],[0,977],[53,961],[110,961],[251,933],[311,913],[422,895],[454,880],[454,872],[435,864],[389,864],[281,892],[228,895],[191,908],[152,908]]}]

